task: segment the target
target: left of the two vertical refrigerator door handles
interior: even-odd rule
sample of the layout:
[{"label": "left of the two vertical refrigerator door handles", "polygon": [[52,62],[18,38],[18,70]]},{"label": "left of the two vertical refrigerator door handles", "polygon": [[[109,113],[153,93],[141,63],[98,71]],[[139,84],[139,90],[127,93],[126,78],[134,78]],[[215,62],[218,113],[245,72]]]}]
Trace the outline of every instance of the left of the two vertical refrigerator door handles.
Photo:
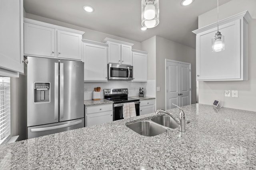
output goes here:
[{"label": "left of the two vertical refrigerator door handles", "polygon": [[54,119],[58,119],[59,63],[54,63]]}]

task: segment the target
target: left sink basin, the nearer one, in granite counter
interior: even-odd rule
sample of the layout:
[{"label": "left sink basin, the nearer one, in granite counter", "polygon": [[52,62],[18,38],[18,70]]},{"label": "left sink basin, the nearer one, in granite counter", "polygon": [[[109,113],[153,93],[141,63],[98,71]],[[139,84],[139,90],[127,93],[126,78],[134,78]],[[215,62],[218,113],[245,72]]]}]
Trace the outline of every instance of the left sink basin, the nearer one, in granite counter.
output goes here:
[{"label": "left sink basin, the nearer one, in granite counter", "polygon": [[150,121],[137,121],[126,126],[143,136],[155,136],[166,132],[166,129]]}]

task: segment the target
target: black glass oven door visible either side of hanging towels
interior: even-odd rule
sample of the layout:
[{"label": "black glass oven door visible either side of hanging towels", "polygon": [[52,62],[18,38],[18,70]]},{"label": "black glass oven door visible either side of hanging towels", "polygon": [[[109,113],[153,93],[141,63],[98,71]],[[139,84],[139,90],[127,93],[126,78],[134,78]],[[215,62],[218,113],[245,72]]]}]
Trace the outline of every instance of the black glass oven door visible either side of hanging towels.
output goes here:
[{"label": "black glass oven door visible either side of hanging towels", "polygon": [[[136,116],[140,115],[140,101],[134,102]],[[123,103],[113,104],[113,121],[124,119],[123,117]]]}]

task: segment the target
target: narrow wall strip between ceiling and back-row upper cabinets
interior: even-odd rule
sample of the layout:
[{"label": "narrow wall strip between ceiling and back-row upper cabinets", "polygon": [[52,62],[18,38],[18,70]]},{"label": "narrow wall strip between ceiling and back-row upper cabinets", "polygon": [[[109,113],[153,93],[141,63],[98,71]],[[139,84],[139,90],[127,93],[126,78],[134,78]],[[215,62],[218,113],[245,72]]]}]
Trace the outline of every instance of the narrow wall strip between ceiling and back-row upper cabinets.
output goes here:
[{"label": "narrow wall strip between ceiling and back-row upper cabinets", "polygon": [[117,39],[117,40],[120,40],[120,41],[125,41],[125,42],[128,42],[128,43],[133,43],[134,45],[132,46],[132,49],[141,50],[141,43],[137,42],[137,41],[132,41],[130,39],[125,39],[125,38],[118,37],[118,36],[115,36],[115,35],[110,35],[110,34],[107,34],[107,33],[94,31],[92,29],[79,27],[77,25],[72,25],[72,24],[69,24],[69,23],[65,23],[65,22],[61,22],[61,21],[57,21],[57,20],[52,20],[52,19],[49,19],[49,18],[44,18],[44,17],[37,16],[37,15],[34,15],[34,14],[26,13],[26,18],[29,18],[29,19],[32,19],[32,20],[37,20],[37,21],[42,21],[42,22],[46,22],[46,23],[51,23],[51,24],[54,24],[54,25],[59,25],[59,26],[67,27],[67,28],[71,28],[71,29],[77,29],[79,31],[84,31],[85,33],[83,35],[83,39],[89,39],[89,40],[92,40],[92,41],[102,42],[106,37],[108,37],[108,38]]}]

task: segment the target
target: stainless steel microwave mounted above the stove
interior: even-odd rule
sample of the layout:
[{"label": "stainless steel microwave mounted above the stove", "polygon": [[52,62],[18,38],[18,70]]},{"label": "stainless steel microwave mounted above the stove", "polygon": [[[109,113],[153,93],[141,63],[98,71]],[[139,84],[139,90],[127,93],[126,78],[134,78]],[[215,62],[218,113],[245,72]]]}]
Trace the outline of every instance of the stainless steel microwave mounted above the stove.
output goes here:
[{"label": "stainless steel microwave mounted above the stove", "polygon": [[133,66],[108,64],[108,80],[132,80]]}]

